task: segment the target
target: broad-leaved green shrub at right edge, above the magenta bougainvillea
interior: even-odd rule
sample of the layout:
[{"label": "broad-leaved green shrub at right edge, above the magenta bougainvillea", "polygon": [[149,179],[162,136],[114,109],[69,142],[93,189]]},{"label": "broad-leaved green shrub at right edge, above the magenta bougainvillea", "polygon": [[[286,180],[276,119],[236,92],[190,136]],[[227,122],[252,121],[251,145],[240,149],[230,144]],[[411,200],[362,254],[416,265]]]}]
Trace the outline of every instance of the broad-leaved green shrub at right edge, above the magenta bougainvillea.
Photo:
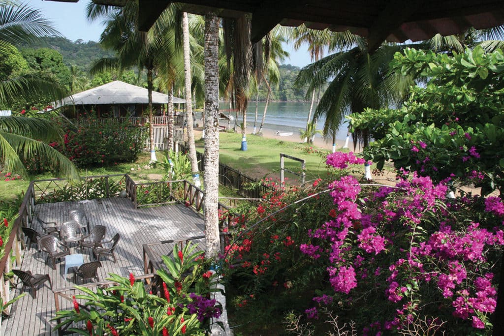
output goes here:
[{"label": "broad-leaved green shrub at right edge, above the magenta bougainvillea", "polygon": [[366,109],[349,116],[354,130],[375,141],[364,157],[381,169],[414,170],[440,182],[504,190],[504,54],[480,47],[453,56],[406,49],[392,71],[428,78],[399,109]]}]

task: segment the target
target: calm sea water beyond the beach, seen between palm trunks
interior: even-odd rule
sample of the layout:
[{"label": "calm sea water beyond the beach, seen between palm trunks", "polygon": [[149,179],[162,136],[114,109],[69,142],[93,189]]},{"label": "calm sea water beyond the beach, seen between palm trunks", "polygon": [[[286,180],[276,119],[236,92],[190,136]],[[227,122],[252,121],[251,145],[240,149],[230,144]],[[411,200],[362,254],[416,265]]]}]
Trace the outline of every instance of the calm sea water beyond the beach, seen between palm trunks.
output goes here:
[{"label": "calm sea water beyond the beach, seen between palm trunks", "polygon": [[[264,102],[259,102],[258,108],[258,121],[257,129],[261,125],[261,118],[264,112]],[[229,103],[221,103],[221,109],[229,109]],[[279,130],[282,132],[294,132],[294,135],[299,134],[299,129],[304,129],[306,127],[306,118],[308,117],[308,110],[310,108],[310,103],[298,103],[298,102],[271,102],[268,105],[268,112],[266,113],[266,121],[264,123],[264,128],[271,130]],[[228,112],[225,112],[228,114]],[[247,109],[247,126],[254,126],[254,118],[256,113],[256,103],[249,102]],[[312,112],[313,113],[313,112]],[[234,117],[234,112],[231,113]],[[312,114],[313,115],[313,114]],[[238,123],[242,121],[242,117],[238,116]],[[324,127],[325,118],[321,118],[317,122],[317,129],[322,129]],[[234,120],[231,125],[234,124]],[[343,125],[338,130],[337,139],[344,140],[346,138],[347,128]],[[319,135],[318,135],[319,137]]]}]

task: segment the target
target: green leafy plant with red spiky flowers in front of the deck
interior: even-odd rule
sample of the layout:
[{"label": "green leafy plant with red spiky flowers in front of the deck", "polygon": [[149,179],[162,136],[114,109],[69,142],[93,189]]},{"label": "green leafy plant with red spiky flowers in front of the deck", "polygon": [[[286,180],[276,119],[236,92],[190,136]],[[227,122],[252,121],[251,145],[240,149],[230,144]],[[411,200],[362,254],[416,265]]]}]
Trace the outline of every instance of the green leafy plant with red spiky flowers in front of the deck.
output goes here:
[{"label": "green leafy plant with red spiky flowers in front of the deck", "polygon": [[222,309],[211,298],[214,273],[197,245],[177,245],[173,258],[163,256],[166,270],[157,271],[161,283],[147,287],[130,274],[128,278],[110,274],[111,287],[75,286],[84,294],[73,297],[72,310],[58,311],[54,319],[62,321],[57,329],[70,325],[69,331],[82,335],[205,335],[210,319]]}]

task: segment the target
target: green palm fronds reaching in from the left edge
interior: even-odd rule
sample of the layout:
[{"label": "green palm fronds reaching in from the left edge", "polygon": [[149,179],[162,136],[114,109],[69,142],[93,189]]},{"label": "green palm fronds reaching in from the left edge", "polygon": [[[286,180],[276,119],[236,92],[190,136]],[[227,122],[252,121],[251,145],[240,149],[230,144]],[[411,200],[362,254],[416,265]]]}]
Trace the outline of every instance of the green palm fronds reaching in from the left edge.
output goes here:
[{"label": "green palm fronds reaching in from the left edge", "polygon": [[[0,48],[55,33],[57,32],[52,25],[39,11],[27,5],[0,1]],[[40,97],[48,97],[57,101],[65,97],[67,91],[56,84],[52,77],[44,74],[0,78],[0,101],[7,106],[20,98],[38,101]],[[49,120],[19,116],[1,117],[0,165],[7,171],[27,176],[23,159],[46,160],[56,172],[71,178],[78,177],[72,162],[45,143],[61,138],[61,129]]]}]

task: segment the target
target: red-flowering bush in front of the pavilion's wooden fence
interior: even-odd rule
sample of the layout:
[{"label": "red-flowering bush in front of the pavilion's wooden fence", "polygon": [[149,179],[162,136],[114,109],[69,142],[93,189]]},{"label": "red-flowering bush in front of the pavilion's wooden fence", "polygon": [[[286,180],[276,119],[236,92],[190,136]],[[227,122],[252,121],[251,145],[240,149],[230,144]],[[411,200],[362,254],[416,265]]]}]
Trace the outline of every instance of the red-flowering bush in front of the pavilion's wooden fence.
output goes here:
[{"label": "red-flowering bush in front of the pavilion's wooden fence", "polygon": [[69,127],[64,143],[50,146],[67,156],[78,167],[97,167],[134,162],[142,151],[142,128],[114,118],[82,117],[80,126]]}]

